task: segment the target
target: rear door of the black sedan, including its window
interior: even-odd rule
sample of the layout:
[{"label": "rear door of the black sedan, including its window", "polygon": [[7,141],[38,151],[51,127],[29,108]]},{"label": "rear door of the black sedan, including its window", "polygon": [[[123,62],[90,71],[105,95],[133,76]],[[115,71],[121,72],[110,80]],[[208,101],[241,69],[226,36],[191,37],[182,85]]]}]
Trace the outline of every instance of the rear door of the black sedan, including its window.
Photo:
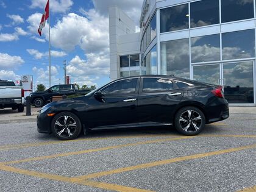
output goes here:
[{"label": "rear door of the black sedan, including its window", "polygon": [[141,124],[170,124],[174,108],[180,103],[183,91],[171,79],[141,78],[138,94],[138,116]]}]

